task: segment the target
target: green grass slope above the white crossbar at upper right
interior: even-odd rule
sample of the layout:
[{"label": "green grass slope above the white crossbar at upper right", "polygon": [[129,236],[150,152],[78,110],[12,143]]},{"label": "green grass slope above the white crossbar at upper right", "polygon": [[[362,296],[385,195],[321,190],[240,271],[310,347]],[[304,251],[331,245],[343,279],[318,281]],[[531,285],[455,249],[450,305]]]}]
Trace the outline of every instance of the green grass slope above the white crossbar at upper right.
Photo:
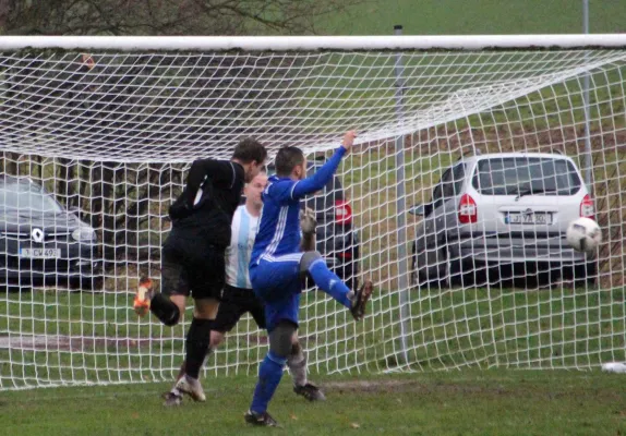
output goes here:
[{"label": "green grass slope above the white crossbar at upper right", "polygon": [[[619,0],[589,2],[591,33],[625,29]],[[582,33],[582,0],[370,0],[345,13],[321,17],[321,34],[392,35]]]}]

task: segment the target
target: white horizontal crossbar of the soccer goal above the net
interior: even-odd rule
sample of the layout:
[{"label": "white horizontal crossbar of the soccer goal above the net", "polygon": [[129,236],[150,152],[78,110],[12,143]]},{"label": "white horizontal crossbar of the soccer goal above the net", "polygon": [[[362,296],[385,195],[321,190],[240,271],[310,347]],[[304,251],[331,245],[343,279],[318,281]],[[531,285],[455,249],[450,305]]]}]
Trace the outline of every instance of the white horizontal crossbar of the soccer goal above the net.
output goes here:
[{"label": "white horizontal crossbar of the soccer goal above the net", "polygon": [[626,34],[458,36],[2,36],[0,49],[98,50],[481,50],[487,48],[619,48]]}]

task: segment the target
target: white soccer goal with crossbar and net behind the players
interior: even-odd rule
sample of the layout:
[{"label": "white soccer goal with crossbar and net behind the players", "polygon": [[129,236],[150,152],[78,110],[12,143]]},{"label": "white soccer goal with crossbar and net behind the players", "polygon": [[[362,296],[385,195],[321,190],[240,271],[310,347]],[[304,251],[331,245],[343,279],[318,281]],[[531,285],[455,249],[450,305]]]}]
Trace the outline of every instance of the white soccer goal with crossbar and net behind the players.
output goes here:
[{"label": "white soccer goal with crossbar and net behind the players", "polygon": [[[0,389],[169,380],[191,319],[137,318],[195,158],[254,136],[318,167],[312,372],[597,368],[626,360],[626,37],[0,38]],[[605,46],[605,47],[603,47]],[[570,220],[603,241],[577,254]],[[190,302],[191,304],[191,302]],[[249,316],[205,375],[256,372]]]}]

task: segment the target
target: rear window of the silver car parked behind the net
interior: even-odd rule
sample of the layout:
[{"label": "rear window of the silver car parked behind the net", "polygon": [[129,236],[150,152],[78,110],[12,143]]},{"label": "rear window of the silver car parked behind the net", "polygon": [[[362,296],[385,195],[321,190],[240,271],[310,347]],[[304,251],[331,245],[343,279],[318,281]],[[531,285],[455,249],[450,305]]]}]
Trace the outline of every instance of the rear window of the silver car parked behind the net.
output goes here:
[{"label": "rear window of the silver car parked behind the net", "polygon": [[482,195],[574,195],[581,181],[569,160],[504,157],[480,160],[472,186]]}]

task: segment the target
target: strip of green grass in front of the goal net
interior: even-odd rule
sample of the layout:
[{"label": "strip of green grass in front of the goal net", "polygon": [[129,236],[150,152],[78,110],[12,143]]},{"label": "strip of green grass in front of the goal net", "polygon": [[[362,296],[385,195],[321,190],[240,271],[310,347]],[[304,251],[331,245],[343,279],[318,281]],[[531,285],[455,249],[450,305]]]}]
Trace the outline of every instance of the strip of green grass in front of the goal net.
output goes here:
[{"label": "strip of green grass in front of the goal net", "polygon": [[164,410],[166,384],[5,392],[7,435],[618,435],[623,376],[600,372],[462,371],[312,377],[327,395],[308,403],[286,375],[270,403],[282,428],[243,423],[254,378],[208,377],[206,403]]}]

